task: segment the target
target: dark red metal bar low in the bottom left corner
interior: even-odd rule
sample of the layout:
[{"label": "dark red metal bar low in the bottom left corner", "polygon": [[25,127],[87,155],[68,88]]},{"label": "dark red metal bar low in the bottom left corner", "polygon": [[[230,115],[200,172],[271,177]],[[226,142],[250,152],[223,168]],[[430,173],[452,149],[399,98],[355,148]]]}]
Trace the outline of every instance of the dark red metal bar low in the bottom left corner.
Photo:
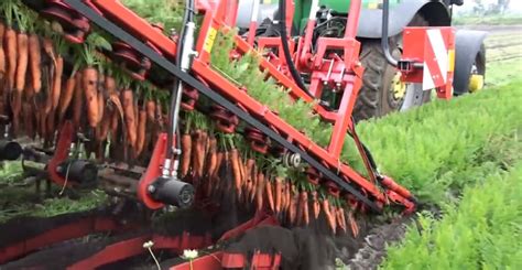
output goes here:
[{"label": "dark red metal bar low in the bottom left corner", "polygon": [[120,225],[117,220],[110,217],[89,216],[80,218],[74,223],[52,228],[30,239],[1,248],[0,263],[4,263],[55,242],[78,238],[94,233],[121,230],[124,228],[126,226]]}]

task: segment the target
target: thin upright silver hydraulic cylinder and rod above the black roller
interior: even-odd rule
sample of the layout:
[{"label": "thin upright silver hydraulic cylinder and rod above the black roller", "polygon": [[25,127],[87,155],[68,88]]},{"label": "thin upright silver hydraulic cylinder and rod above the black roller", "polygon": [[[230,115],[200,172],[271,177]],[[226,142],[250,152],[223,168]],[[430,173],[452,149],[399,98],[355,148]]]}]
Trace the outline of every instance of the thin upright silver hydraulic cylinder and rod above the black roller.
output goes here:
[{"label": "thin upright silver hydraulic cylinder and rod above the black roller", "polygon": [[[185,0],[185,12],[183,14],[183,23],[182,23],[182,29],[181,29],[181,32],[180,32],[180,35],[178,35],[178,40],[177,40],[177,51],[176,51],[176,66],[181,66],[182,65],[182,55],[183,55],[183,45],[182,45],[182,42],[183,42],[183,39],[185,37],[185,31],[186,31],[186,25],[188,22],[192,22],[194,21],[194,14],[193,14],[193,10],[194,10],[194,0]],[[173,123],[173,120],[174,120],[174,108],[176,107],[176,104],[177,104],[177,89],[180,88],[180,79],[175,78],[174,79],[174,84],[173,84],[173,88],[172,88],[172,91],[171,91],[171,109],[168,111],[168,127],[167,127],[167,133],[166,133],[166,158],[170,159],[173,156],[174,154],[174,149],[172,148],[172,141],[173,141],[173,138],[174,138],[174,132],[175,130],[172,130],[172,127],[174,127],[174,123]],[[176,139],[177,143],[180,145],[180,137],[177,136],[177,139]]]}]

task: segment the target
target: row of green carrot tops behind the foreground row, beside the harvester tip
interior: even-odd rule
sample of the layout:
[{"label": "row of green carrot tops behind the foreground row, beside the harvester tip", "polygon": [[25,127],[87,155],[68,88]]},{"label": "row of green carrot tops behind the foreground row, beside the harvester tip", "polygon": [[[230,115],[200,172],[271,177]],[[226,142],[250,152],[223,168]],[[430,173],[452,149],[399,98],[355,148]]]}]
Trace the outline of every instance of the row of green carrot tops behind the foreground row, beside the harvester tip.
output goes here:
[{"label": "row of green carrot tops behind the foreground row, beside the harvester tip", "polygon": [[435,100],[405,114],[361,122],[358,131],[384,174],[422,202],[439,204],[452,195],[448,191],[458,194],[476,181],[461,172],[488,140],[522,127],[521,83],[450,101]]}]

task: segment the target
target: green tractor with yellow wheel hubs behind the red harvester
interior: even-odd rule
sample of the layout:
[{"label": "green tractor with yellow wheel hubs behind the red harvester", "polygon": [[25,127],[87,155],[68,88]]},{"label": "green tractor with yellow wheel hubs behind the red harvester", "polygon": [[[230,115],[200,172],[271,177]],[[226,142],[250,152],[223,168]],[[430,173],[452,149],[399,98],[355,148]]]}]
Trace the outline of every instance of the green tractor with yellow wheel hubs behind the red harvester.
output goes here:
[{"label": "green tractor with yellow wheel hubs behind the red harvester", "polygon": [[[247,28],[254,0],[240,1],[238,25]],[[292,35],[302,35],[313,1],[294,1]],[[319,0],[315,32],[320,36],[339,36],[345,32],[348,0]],[[394,58],[402,55],[402,32],[406,26],[449,26],[452,11],[463,0],[390,0],[388,40]],[[357,37],[361,42],[360,61],[365,67],[363,86],[356,102],[356,120],[381,117],[406,110],[431,100],[431,91],[415,91],[414,85],[401,82],[401,73],[388,63],[382,51],[382,0],[362,0]],[[267,21],[276,21],[278,0],[263,0],[258,12],[257,35],[271,33]],[[273,32],[273,31],[272,31]],[[472,93],[483,86],[486,74],[485,32],[459,30],[456,33],[454,95]]]}]

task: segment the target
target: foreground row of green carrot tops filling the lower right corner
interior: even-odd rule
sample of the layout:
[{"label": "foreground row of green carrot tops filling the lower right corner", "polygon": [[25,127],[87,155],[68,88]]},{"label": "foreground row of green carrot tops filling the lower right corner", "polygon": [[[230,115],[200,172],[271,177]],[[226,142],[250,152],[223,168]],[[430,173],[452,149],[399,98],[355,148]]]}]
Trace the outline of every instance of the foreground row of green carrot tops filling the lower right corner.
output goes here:
[{"label": "foreground row of green carrot tops filling the lower right corner", "polygon": [[[519,142],[520,143],[520,142]],[[420,228],[388,250],[383,269],[522,269],[522,163],[467,187],[444,217],[420,214]]]}]

